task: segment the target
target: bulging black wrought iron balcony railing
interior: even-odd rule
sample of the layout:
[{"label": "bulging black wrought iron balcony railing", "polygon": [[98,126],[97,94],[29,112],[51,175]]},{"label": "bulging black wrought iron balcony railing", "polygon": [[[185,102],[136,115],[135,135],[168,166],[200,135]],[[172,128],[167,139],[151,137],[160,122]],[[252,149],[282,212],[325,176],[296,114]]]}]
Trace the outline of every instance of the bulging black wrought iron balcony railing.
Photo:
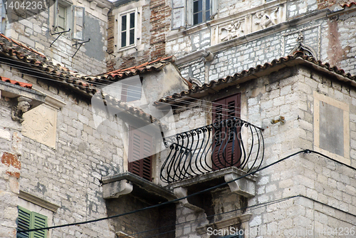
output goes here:
[{"label": "bulging black wrought iron balcony railing", "polygon": [[165,138],[170,151],[160,177],[170,183],[231,166],[256,170],[264,155],[262,130],[234,118]]}]

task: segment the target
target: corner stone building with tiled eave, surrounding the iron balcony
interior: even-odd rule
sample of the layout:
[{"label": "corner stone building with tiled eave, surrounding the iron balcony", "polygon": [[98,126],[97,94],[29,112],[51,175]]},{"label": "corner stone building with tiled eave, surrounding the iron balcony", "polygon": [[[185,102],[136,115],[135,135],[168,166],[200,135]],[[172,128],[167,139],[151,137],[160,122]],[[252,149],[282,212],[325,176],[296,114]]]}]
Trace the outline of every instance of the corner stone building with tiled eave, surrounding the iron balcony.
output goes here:
[{"label": "corner stone building with tiled eave, surrounding the iron balcony", "polygon": [[[212,112],[206,110],[206,107],[211,108],[207,102],[240,94],[241,108],[238,106],[235,110],[241,110],[242,120],[264,129],[261,167],[272,165],[254,174],[250,192],[246,193],[244,182],[237,184],[238,190],[225,185],[205,192],[205,198],[211,196],[209,204],[213,211],[196,200],[180,202],[176,236],[224,237],[241,230],[245,237],[328,237],[340,235],[341,230],[355,229],[352,229],[355,227],[354,79],[355,76],[328,64],[295,55],[184,91],[174,95],[174,101],[160,100],[171,105],[185,104],[187,110],[178,109],[175,118],[185,121],[184,126],[189,124],[189,130],[182,131],[198,134],[197,128],[211,124],[211,116],[216,113],[214,104]],[[217,93],[211,93],[213,91]],[[177,103],[181,98],[186,100]],[[271,123],[272,120],[276,121]],[[190,134],[192,140],[199,140],[197,134]],[[182,135],[184,133],[180,138]],[[253,133],[241,129],[241,143],[245,143],[247,154],[252,148],[251,138]],[[184,143],[177,141],[183,147]],[[305,149],[315,152],[300,152]],[[192,157],[197,156],[201,162],[204,156],[202,159],[199,153],[201,151],[192,150]],[[290,155],[293,156],[288,157]],[[195,160],[191,162],[194,164]],[[247,165],[245,170],[248,168]],[[179,175],[187,176],[182,171]],[[169,187],[174,191],[184,187],[187,195],[199,192],[207,182],[207,187],[215,184],[218,175],[214,177],[214,173],[216,171],[187,176],[185,180],[176,177],[178,181],[171,182]],[[229,173],[231,171],[226,170],[223,174],[226,182],[229,182],[226,177]],[[246,203],[241,202],[244,197]],[[332,230],[337,233],[331,234]],[[345,235],[353,237],[355,234]]]}]

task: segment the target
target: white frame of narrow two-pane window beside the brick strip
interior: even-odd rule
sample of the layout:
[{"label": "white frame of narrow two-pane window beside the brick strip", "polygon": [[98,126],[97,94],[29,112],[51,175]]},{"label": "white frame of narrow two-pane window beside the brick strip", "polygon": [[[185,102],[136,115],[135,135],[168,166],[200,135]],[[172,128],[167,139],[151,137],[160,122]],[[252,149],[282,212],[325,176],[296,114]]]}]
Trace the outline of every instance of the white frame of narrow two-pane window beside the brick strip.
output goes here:
[{"label": "white frame of narrow two-pane window beside the brick strip", "polygon": [[[131,45],[127,45],[126,46],[121,46],[121,42],[122,42],[122,38],[121,38],[121,17],[126,15],[127,16],[127,23],[126,23],[126,29],[127,29],[127,34],[126,34],[126,43],[130,43],[130,27],[127,27],[130,25],[130,14],[135,13],[135,28],[134,28],[134,43]],[[120,14],[118,15],[118,19],[117,19],[117,48],[118,51],[124,51],[128,48],[134,48],[137,47],[137,28],[138,28],[138,11],[137,8],[136,9],[130,9],[127,11],[122,11],[120,12]]]}]

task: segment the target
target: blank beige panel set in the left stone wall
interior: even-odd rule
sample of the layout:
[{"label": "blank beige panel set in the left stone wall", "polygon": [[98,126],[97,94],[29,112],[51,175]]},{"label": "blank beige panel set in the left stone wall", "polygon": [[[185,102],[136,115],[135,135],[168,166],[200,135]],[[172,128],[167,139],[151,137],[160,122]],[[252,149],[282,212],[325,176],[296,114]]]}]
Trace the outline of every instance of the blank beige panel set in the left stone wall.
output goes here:
[{"label": "blank beige panel set in the left stone wall", "polygon": [[57,111],[49,106],[39,105],[23,114],[23,135],[56,148]]}]

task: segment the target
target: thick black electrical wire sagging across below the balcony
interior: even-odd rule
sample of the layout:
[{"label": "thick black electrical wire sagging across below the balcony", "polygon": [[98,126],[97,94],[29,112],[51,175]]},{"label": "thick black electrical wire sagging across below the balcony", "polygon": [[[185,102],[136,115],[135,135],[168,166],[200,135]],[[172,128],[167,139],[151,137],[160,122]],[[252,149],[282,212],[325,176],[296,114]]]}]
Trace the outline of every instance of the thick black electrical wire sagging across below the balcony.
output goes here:
[{"label": "thick black electrical wire sagging across below the balcony", "polygon": [[152,206],[150,206],[150,207],[143,207],[143,208],[141,208],[141,209],[136,209],[136,210],[131,211],[131,212],[125,212],[125,213],[122,213],[122,214],[116,214],[116,215],[113,215],[113,216],[110,216],[110,217],[102,217],[102,218],[99,218],[99,219],[93,219],[93,220],[88,220],[88,221],[84,221],[84,222],[75,222],[75,223],[70,223],[70,224],[61,224],[61,225],[56,225],[56,226],[52,226],[52,227],[44,227],[44,228],[38,228],[38,229],[26,229],[26,230],[21,230],[21,231],[18,231],[18,232],[19,232],[19,233],[23,233],[23,232],[36,232],[36,231],[40,231],[40,230],[44,230],[44,229],[55,229],[55,228],[59,228],[59,227],[69,227],[69,226],[74,226],[74,225],[79,225],[79,224],[88,224],[88,223],[93,223],[93,222],[100,222],[100,221],[103,221],[103,220],[105,220],[105,219],[112,219],[112,218],[115,218],[115,217],[122,217],[122,216],[125,216],[125,215],[127,215],[127,214],[134,214],[134,213],[136,213],[136,212],[141,212],[141,211],[144,211],[144,210],[147,210],[147,209],[152,209],[152,208],[155,208],[155,207],[160,207],[160,206],[162,206],[162,205],[167,205],[167,204],[171,204],[171,203],[174,203],[174,202],[179,202],[180,200],[184,200],[184,199],[187,199],[187,198],[192,197],[192,196],[195,196],[195,195],[199,195],[199,194],[204,193],[204,192],[209,192],[209,191],[214,190],[214,189],[216,189],[216,188],[219,188],[219,187],[221,187],[221,186],[228,185],[230,182],[235,182],[235,181],[237,181],[237,180],[241,180],[241,179],[244,178],[244,177],[248,177],[248,176],[250,176],[250,175],[254,175],[254,174],[256,174],[256,172],[259,172],[259,171],[261,171],[261,170],[266,170],[268,167],[271,167],[271,166],[273,166],[273,165],[276,165],[276,164],[278,164],[279,162],[282,162],[282,161],[284,161],[284,160],[287,160],[288,158],[293,157],[293,156],[295,156],[295,155],[299,155],[300,153],[309,154],[309,153],[312,153],[312,152],[315,153],[315,154],[317,154],[317,155],[320,155],[320,156],[323,156],[323,157],[325,157],[325,158],[328,158],[329,160],[333,160],[334,162],[337,162],[337,163],[339,163],[339,164],[341,164],[341,165],[344,165],[344,166],[346,166],[346,167],[349,167],[349,168],[351,168],[352,170],[356,170],[354,167],[352,167],[352,166],[350,166],[350,165],[346,165],[345,163],[340,162],[340,161],[337,161],[337,160],[335,160],[335,159],[333,159],[333,158],[331,158],[331,157],[328,157],[327,155],[323,155],[323,154],[320,153],[320,152],[316,152],[316,151],[314,151],[314,150],[300,150],[300,151],[298,151],[298,152],[294,152],[294,153],[291,154],[291,155],[288,155],[288,156],[286,156],[286,157],[283,157],[283,158],[280,159],[280,160],[277,160],[277,161],[275,161],[275,162],[272,162],[270,165],[266,165],[265,167],[260,167],[260,168],[258,168],[258,170],[254,170],[253,172],[249,172],[249,173],[247,173],[246,175],[242,175],[241,177],[237,177],[237,178],[234,179],[234,180],[231,180],[231,181],[229,181],[229,182],[223,182],[223,183],[221,183],[220,185],[216,185],[216,186],[214,186],[214,187],[209,187],[209,188],[207,188],[207,189],[205,189],[205,190],[201,190],[201,191],[199,191],[199,192],[194,192],[194,193],[192,193],[191,195],[187,195],[187,196],[185,196],[185,197],[179,197],[179,198],[177,198],[177,199],[175,199],[175,200],[171,200],[171,201],[167,201],[167,202],[162,202],[162,203],[159,203],[159,204],[157,204],[157,205],[152,205]]}]

